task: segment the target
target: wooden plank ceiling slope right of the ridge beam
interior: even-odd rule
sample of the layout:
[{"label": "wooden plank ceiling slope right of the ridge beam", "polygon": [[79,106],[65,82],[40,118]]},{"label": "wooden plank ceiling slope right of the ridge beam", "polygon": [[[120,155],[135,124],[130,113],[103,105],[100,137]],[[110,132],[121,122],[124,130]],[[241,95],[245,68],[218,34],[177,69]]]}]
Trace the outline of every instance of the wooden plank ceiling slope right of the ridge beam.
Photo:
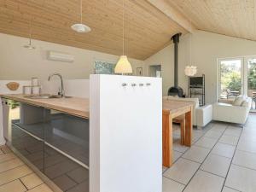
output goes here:
[{"label": "wooden plank ceiling slope right of the ridge beam", "polygon": [[165,0],[195,28],[256,40],[256,0]]}]

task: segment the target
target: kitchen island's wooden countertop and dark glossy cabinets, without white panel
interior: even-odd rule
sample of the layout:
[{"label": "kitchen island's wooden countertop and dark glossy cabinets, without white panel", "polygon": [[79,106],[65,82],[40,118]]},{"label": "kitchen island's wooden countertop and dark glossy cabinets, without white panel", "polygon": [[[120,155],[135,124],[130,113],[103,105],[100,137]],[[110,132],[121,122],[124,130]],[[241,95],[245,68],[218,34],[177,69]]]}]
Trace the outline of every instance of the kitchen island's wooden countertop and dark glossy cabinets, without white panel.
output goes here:
[{"label": "kitchen island's wooden countertop and dark glossy cabinets, without white panel", "polygon": [[55,191],[89,191],[89,99],[2,95],[20,108],[9,117],[10,148]]}]

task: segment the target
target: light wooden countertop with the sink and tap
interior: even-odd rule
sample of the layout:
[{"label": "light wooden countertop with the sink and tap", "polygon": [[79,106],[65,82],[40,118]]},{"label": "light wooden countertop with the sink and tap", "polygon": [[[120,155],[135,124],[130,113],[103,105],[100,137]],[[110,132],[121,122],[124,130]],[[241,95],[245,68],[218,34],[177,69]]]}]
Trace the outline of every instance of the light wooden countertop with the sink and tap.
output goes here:
[{"label": "light wooden countertop with the sink and tap", "polygon": [[7,94],[0,95],[3,98],[15,100],[17,102],[26,102],[38,107],[50,108],[64,113],[73,114],[85,119],[90,117],[89,99],[72,97],[72,98],[50,98],[50,99],[31,99],[24,95]]}]

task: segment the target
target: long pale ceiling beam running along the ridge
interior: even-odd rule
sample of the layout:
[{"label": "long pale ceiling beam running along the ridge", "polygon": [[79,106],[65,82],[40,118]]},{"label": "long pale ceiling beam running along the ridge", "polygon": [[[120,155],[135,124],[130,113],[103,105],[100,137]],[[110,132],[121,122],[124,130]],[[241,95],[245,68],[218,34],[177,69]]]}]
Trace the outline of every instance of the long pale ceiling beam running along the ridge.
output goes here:
[{"label": "long pale ceiling beam running along the ridge", "polygon": [[155,8],[160,9],[162,13],[168,16],[171,20],[182,26],[188,32],[195,32],[195,26],[187,20],[177,9],[172,8],[171,4],[166,0],[147,0],[148,3],[154,5]]}]

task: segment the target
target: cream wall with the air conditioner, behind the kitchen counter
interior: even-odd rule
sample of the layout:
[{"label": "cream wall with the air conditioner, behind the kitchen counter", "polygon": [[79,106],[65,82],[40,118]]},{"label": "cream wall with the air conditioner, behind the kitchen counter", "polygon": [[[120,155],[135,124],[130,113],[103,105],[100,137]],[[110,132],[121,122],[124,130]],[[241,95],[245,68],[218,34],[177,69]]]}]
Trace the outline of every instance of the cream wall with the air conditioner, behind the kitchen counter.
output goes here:
[{"label": "cream wall with the air conditioner, behind the kitchen counter", "polygon": [[[117,61],[119,56],[109,55],[87,49],[79,49],[61,44],[32,40],[37,49],[25,49],[27,38],[0,33],[0,79],[26,80],[31,77],[47,79],[50,73],[61,73],[64,79],[89,79],[94,72],[94,61]],[[74,55],[73,63],[48,61],[48,50]],[[133,71],[143,67],[143,61],[130,59]]]}]

